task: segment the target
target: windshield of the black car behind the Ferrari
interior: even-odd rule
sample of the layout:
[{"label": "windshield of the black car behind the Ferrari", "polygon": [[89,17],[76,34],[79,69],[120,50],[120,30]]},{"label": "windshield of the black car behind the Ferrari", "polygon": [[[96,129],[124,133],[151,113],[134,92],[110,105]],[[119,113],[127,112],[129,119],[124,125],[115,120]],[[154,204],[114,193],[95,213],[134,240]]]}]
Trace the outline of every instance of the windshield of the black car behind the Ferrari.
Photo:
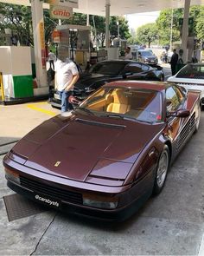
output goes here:
[{"label": "windshield of the black car behind the Ferrari", "polygon": [[125,65],[124,62],[99,62],[92,66],[88,72],[101,75],[119,75]]}]

